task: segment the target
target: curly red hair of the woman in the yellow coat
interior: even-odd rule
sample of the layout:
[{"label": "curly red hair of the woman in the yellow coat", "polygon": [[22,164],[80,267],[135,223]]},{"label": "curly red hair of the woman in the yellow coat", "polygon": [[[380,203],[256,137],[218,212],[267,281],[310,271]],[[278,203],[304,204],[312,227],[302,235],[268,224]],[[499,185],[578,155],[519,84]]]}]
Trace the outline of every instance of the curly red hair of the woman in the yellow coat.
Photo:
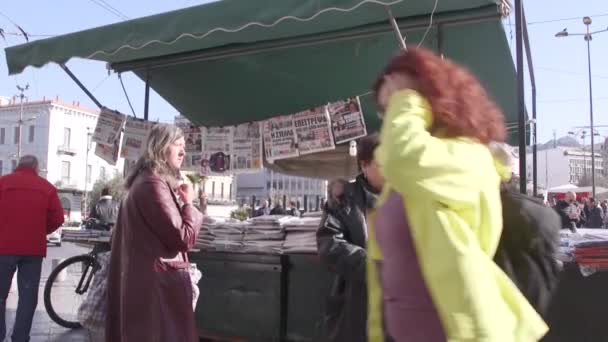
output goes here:
[{"label": "curly red hair of the woman in the yellow coat", "polygon": [[[487,144],[504,142],[504,117],[477,78],[464,67],[424,48],[408,47],[385,67],[373,86],[376,102],[387,75],[411,78],[433,111],[431,132],[447,138],[470,137]],[[385,110],[385,108],[381,108]]]}]

